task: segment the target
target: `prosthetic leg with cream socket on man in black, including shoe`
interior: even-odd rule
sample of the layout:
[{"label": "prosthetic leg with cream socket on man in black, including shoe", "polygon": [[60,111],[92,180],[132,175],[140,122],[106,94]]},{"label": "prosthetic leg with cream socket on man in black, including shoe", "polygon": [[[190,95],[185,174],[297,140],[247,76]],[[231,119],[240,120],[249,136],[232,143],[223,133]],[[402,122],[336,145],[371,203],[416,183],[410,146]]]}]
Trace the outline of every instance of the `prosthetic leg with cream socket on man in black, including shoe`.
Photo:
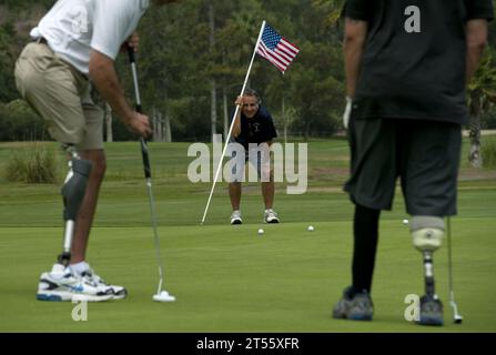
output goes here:
[{"label": "prosthetic leg with cream socket on man in black, including shoe", "polygon": [[411,224],[414,246],[424,257],[425,295],[421,298],[422,325],[443,325],[443,303],[435,291],[433,255],[441,247],[444,220],[433,216],[413,216]]}]

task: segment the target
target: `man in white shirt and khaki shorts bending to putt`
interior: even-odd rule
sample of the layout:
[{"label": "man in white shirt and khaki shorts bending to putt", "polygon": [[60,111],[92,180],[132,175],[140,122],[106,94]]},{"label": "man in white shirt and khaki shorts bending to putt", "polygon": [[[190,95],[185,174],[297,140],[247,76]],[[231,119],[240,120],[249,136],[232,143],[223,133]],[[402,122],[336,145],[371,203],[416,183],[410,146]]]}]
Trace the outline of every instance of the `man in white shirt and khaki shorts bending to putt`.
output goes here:
[{"label": "man in white shirt and khaki shorts bending to putt", "polygon": [[[162,6],[176,0],[152,0]],[[126,290],[107,284],[85,262],[85,252],[105,172],[103,114],[90,98],[90,84],[130,131],[146,136],[149,118],[128,103],[114,69],[123,45],[136,50],[136,26],[150,0],[59,0],[31,31],[16,63],[21,95],[44,119],[69,154],[62,187],[64,248],[40,278],[41,301],[124,298]]]}]

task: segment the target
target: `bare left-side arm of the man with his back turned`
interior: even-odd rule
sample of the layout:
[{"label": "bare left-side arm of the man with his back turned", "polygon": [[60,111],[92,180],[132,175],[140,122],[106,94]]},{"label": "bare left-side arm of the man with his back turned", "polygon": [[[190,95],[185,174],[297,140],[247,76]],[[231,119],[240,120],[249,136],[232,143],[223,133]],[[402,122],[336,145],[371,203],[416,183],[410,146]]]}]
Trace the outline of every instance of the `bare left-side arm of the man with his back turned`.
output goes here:
[{"label": "bare left-side arm of the man with his back turned", "polygon": [[346,95],[348,98],[355,95],[367,31],[367,22],[346,18],[344,57],[346,70]]}]

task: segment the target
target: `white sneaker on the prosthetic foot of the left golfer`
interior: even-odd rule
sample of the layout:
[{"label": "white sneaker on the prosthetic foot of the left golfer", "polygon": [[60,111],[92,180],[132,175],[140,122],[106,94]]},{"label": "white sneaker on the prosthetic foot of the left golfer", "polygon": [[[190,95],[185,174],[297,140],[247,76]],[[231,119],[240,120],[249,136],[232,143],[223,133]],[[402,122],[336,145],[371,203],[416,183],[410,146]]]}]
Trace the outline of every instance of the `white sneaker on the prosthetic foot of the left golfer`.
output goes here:
[{"label": "white sneaker on the prosthetic foot of the left golfer", "polygon": [[111,298],[112,291],[87,282],[61,264],[54,264],[51,272],[41,274],[38,284],[39,301],[101,302]]}]

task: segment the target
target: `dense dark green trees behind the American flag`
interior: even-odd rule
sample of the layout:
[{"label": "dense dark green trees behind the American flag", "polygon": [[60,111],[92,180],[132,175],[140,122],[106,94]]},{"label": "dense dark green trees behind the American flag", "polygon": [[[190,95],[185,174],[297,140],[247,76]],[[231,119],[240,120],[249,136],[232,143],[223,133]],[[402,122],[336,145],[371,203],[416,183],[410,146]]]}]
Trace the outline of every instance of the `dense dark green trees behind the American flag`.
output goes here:
[{"label": "dense dark green trees behind the American flag", "polygon": [[[0,102],[18,98],[13,84],[16,58],[26,43],[31,22],[53,1],[7,1],[0,17]],[[302,51],[282,75],[256,55],[250,87],[261,92],[276,124],[282,102],[292,112],[291,131],[330,135],[338,128],[343,109],[344,71],[337,20],[343,0],[184,0],[152,7],[140,22],[138,67],[140,89],[148,114],[160,112],[171,120],[174,141],[210,141],[211,88],[215,81],[219,123],[223,122],[223,93],[227,112],[241,91],[260,26],[266,20]],[[1,6],[0,6],[1,7]],[[209,14],[213,11],[214,42]],[[19,29],[23,30],[20,31]],[[22,33],[21,33],[22,32]],[[126,55],[117,60],[128,97],[133,87]],[[41,139],[42,121],[32,113],[0,108],[0,140]],[[119,120],[113,123],[115,141],[133,140]],[[221,132],[221,124],[217,125]],[[33,133],[33,131],[36,131]],[[43,139],[48,139],[44,136]]]}]

